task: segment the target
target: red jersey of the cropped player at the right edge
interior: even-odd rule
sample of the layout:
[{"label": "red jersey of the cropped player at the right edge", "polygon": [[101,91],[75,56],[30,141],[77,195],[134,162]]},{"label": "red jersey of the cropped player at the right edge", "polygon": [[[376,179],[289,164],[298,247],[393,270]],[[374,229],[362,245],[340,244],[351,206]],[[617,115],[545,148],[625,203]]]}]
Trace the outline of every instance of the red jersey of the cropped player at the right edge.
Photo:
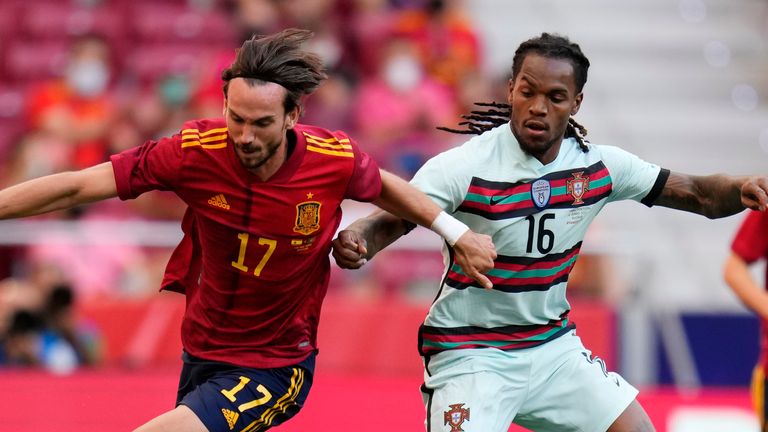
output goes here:
[{"label": "red jersey of the cropped player at the right edge", "polygon": [[[733,239],[731,250],[749,264],[760,259],[768,260],[768,212],[748,212]],[[768,268],[766,268],[765,283],[768,284]],[[763,370],[768,370],[768,321],[766,320],[761,322],[761,334],[760,361]]]}]

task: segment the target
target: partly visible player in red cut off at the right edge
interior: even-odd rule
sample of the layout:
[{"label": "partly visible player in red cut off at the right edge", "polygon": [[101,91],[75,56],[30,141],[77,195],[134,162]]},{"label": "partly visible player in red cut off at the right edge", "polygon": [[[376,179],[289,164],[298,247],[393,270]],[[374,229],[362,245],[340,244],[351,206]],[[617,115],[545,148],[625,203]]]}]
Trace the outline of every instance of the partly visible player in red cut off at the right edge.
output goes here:
[{"label": "partly visible player in red cut off at the right edge", "polygon": [[[725,282],[745,306],[760,318],[760,358],[752,374],[752,401],[760,417],[760,430],[768,431],[765,411],[766,371],[768,371],[768,286],[761,288],[752,277],[749,266],[768,260],[768,213],[749,212],[731,244],[725,261]],[[765,283],[768,284],[768,270]]]}]

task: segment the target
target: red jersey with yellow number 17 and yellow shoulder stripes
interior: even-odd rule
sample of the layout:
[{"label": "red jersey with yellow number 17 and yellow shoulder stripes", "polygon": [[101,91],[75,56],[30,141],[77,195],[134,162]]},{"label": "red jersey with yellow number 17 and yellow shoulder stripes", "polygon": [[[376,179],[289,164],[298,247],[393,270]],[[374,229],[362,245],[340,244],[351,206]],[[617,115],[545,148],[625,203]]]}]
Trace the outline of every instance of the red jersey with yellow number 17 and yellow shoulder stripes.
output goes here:
[{"label": "red jersey with yellow number 17 and yellow shoulder stripes", "polygon": [[112,156],[118,196],[174,191],[188,205],[184,238],[162,289],[184,292],[184,349],[255,368],[316,349],[342,200],[373,201],[378,166],[342,132],[296,125],[283,166],[261,181],[237,159],[224,120]]}]

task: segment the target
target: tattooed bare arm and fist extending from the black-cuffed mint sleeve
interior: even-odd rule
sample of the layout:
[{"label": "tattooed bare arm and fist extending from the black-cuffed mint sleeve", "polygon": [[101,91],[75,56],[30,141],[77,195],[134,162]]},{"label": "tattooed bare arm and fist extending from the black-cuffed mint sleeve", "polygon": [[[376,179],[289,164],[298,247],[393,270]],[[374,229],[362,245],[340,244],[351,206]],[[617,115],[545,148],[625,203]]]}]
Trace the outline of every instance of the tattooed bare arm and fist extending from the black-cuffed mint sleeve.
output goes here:
[{"label": "tattooed bare arm and fist extending from the black-cuffed mint sleeve", "polygon": [[655,205],[685,210],[710,219],[736,214],[745,208],[768,208],[768,177],[724,174],[692,176],[671,173]]}]

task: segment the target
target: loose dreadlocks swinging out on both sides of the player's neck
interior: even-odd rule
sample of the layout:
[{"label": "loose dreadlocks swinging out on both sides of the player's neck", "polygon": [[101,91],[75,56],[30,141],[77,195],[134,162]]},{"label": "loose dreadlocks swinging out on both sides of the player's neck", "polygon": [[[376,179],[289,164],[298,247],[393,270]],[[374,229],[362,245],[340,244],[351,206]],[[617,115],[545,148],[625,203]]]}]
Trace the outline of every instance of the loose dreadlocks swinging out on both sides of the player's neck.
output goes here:
[{"label": "loose dreadlocks swinging out on both sides of the player's neck", "polygon": [[[461,118],[464,121],[459,122],[459,126],[465,126],[466,129],[453,129],[445,126],[438,126],[437,129],[457,133],[462,135],[480,135],[495,127],[509,122],[511,107],[509,104],[499,102],[475,102],[479,107],[486,107],[485,110],[473,110],[469,114],[463,114]],[[568,126],[565,127],[565,138],[574,138],[579,143],[579,148],[584,153],[589,151],[585,138],[587,129],[579,124],[573,117],[568,119]]]}]

